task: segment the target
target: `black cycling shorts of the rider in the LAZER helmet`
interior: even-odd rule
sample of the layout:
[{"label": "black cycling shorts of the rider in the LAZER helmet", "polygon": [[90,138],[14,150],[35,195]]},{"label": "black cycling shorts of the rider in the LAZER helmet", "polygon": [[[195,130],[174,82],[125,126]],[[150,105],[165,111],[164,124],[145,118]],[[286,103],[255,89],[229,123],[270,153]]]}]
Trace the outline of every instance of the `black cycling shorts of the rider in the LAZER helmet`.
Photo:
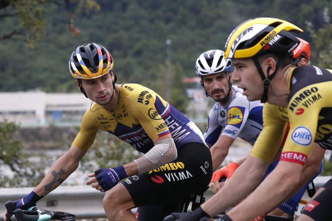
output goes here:
[{"label": "black cycling shorts of the rider in the LAZER helmet", "polygon": [[302,214],[313,220],[329,221],[332,219],[332,178],[322,187],[325,189],[304,207]]}]

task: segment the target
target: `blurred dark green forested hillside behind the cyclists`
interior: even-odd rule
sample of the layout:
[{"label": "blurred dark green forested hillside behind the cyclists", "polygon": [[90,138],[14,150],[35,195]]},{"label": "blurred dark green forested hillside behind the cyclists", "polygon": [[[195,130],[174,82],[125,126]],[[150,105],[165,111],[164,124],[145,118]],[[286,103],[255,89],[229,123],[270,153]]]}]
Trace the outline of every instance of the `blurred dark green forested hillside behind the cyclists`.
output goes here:
[{"label": "blurred dark green forested hillside behind the cyclists", "polygon": [[[173,85],[181,83],[176,70],[181,71],[182,77],[195,76],[196,58],[206,50],[223,49],[229,33],[241,22],[255,17],[277,17],[303,30],[309,22],[312,30],[317,31],[330,25],[330,22],[326,24],[324,15],[326,10],[331,10],[329,0],[7,2],[12,5],[0,7],[0,15],[16,10],[22,13],[0,16],[0,36],[17,28],[23,37],[15,35],[0,44],[1,91],[40,88],[46,92],[78,92],[68,72],[68,58],[78,45],[96,42],[111,51],[118,82],[140,83],[161,92],[161,96],[168,85],[160,84],[169,68],[167,39],[172,40],[172,90],[184,91],[186,85]],[[68,30],[69,25],[79,29],[76,37]],[[19,29],[22,26],[27,29],[22,31]],[[31,44],[33,31],[39,34]],[[326,48],[316,47],[314,44],[319,41],[312,41],[310,32],[299,37],[311,44],[312,64],[330,59],[330,56],[319,57]],[[330,42],[331,38],[325,36],[324,40]]]}]

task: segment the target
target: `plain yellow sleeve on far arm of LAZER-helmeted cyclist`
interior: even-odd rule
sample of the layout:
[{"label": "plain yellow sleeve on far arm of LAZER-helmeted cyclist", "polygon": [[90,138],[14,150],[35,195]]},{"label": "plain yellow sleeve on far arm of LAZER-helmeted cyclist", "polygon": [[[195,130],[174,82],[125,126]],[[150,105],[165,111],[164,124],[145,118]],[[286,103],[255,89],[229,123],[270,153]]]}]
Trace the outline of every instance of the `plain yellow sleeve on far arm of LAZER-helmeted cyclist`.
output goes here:
[{"label": "plain yellow sleeve on far arm of LAZER-helmeted cyclist", "polygon": [[250,155],[272,163],[280,148],[287,124],[278,117],[278,106],[269,103],[263,107],[263,122],[263,130]]}]

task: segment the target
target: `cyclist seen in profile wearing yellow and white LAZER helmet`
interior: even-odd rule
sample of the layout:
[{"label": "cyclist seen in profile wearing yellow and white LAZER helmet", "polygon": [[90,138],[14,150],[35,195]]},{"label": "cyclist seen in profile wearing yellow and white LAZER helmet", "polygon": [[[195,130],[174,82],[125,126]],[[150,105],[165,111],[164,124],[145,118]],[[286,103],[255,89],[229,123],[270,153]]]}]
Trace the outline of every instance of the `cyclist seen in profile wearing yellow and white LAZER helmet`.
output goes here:
[{"label": "cyclist seen in profile wearing yellow and white LAZER helmet", "polygon": [[[314,142],[332,149],[332,72],[315,66],[292,67],[291,52],[300,42],[291,32],[302,30],[280,19],[257,18],[242,23],[228,37],[225,56],[232,59],[233,80],[248,100],[267,102],[264,127],[250,156],[224,187],[193,212],[176,213],[176,220],[204,219],[234,205],[219,220],[251,220],[305,183],[301,173]],[[290,131],[280,162],[259,183],[280,151],[287,122]]]}]

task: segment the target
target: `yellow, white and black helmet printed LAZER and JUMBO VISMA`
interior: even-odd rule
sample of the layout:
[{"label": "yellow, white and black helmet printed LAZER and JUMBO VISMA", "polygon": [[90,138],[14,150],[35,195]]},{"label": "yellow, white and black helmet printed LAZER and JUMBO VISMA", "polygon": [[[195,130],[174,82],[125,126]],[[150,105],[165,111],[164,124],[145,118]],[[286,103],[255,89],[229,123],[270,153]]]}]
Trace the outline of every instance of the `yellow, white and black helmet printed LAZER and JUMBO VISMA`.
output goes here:
[{"label": "yellow, white and black helmet printed LAZER and JUMBO VISMA", "polygon": [[289,54],[300,41],[290,32],[302,29],[276,18],[256,18],[243,22],[229,35],[225,45],[226,58],[249,58],[265,53]]}]

